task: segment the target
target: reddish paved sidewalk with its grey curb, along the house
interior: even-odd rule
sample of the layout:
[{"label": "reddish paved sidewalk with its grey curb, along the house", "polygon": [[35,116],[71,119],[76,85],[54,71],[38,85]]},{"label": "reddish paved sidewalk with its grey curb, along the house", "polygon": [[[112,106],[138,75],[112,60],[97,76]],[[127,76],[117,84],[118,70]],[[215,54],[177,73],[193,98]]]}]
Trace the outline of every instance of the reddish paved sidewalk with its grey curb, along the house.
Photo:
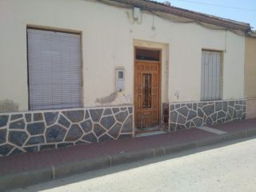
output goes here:
[{"label": "reddish paved sidewalk with its grey curb, along the house", "polygon": [[[256,134],[256,119],[0,158],[0,191]],[[221,131],[221,132],[222,132]]]}]

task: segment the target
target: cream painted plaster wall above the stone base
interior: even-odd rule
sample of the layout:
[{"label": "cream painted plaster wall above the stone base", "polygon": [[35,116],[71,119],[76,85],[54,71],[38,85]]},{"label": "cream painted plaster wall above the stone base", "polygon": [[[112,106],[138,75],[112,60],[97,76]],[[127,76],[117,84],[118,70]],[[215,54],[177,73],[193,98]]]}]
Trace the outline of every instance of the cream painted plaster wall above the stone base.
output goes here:
[{"label": "cream painted plaster wall above the stone base", "polygon": [[[28,110],[26,27],[31,25],[82,32],[84,106],[133,103],[134,42],[143,41],[164,51],[162,102],[200,101],[202,49],[223,51],[222,98],[244,96],[245,38],[238,34],[146,12],[138,23],[132,10],[94,1],[2,0],[0,102],[13,101],[18,110]],[[115,97],[117,67],[125,69],[125,90]]]}]

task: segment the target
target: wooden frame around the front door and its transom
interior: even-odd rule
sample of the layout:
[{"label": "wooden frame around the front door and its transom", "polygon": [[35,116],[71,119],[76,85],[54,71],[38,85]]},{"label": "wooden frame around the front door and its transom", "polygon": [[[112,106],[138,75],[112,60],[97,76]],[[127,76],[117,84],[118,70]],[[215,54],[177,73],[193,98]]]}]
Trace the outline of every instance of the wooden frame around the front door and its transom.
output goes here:
[{"label": "wooden frame around the front door and its transom", "polygon": [[[154,48],[154,47],[146,47],[146,46],[134,46],[134,130],[135,130],[135,134],[138,133],[138,128],[136,126],[136,122],[135,122],[135,118],[136,118],[136,107],[135,107],[135,65],[136,65],[136,62],[155,62],[155,61],[150,61],[150,60],[138,60],[136,59],[136,50],[137,49],[142,49],[142,50],[158,50],[159,51],[159,81],[158,81],[158,86],[159,86],[159,91],[158,91],[158,94],[159,94],[159,106],[158,106],[158,119],[159,119],[159,122],[158,122],[158,129],[157,130],[161,130],[162,129],[162,49],[159,49],[159,48]],[[149,131],[156,131],[156,130],[149,130]],[[143,132],[140,131],[140,132]],[[145,130],[144,132],[148,132],[147,130]]]}]

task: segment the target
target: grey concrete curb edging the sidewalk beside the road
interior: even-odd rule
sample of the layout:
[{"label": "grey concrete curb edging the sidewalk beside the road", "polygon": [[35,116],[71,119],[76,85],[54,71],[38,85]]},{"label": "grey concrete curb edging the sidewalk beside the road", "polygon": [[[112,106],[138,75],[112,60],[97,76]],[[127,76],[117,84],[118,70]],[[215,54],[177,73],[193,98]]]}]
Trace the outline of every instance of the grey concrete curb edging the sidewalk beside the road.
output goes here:
[{"label": "grey concrete curb edging the sidewalk beside the road", "polygon": [[239,130],[233,133],[214,135],[194,142],[182,143],[177,146],[160,146],[146,150],[137,150],[127,153],[104,155],[101,158],[91,158],[84,161],[48,166],[38,170],[0,176],[0,191],[12,190],[19,187],[31,186],[40,182],[49,182],[74,174],[82,174],[92,170],[99,170],[110,166],[118,166],[128,162],[136,162],[146,158],[159,157],[166,154],[175,154],[202,146],[210,146],[221,142],[228,142],[238,138],[249,138],[256,135],[256,128]]}]

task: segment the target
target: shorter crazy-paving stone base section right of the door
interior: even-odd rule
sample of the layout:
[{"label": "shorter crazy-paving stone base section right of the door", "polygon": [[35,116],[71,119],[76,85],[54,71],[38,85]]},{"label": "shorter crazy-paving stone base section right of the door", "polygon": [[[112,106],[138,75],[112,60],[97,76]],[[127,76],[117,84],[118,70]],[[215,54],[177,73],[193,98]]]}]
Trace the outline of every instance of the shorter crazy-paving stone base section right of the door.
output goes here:
[{"label": "shorter crazy-paving stone base section right of the door", "polygon": [[246,100],[171,103],[169,131],[246,119]]}]

